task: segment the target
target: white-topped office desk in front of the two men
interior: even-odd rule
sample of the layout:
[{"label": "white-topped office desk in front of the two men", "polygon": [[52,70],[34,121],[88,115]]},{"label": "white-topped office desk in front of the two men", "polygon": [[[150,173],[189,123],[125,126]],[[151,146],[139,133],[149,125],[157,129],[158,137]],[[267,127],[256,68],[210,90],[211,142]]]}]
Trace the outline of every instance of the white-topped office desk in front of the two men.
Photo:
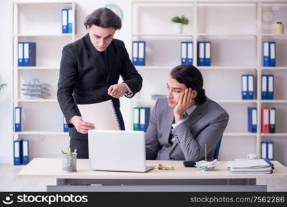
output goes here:
[{"label": "white-topped office desk in front of the two men", "polygon": [[185,168],[183,161],[147,161],[147,166],[174,166],[175,170],[154,169],[149,172],[94,171],[89,159],[77,159],[77,172],[62,172],[62,159],[35,158],[21,170],[21,177],[54,177],[57,186],[48,191],[266,191],[257,186],[257,178],[287,177],[287,168],[272,161],[272,174],[232,174],[227,161],[220,161],[215,170],[202,172]]}]

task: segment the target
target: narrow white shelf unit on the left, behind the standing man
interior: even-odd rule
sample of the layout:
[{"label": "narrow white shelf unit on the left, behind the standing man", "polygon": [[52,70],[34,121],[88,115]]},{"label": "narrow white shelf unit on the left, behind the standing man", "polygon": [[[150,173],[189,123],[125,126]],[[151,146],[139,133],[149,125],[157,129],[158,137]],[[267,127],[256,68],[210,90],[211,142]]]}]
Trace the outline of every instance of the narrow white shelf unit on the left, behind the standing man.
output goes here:
[{"label": "narrow white shelf unit on the left, behind the standing man", "polygon": [[[68,138],[68,133],[62,131],[62,112],[59,109],[59,105],[55,105],[55,103],[57,103],[57,79],[59,77],[59,58],[61,57],[62,48],[67,43],[75,41],[75,23],[73,23],[73,33],[62,34],[62,9],[72,8],[75,17],[76,7],[77,4],[74,1],[13,3],[12,5],[12,106],[13,108],[22,106],[23,122],[22,131],[13,132],[13,140],[21,139],[22,136],[30,139],[32,136],[36,138],[33,142],[33,147],[37,147],[38,144],[41,144],[39,140],[37,142],[37,139],[42,136],[64,136]],[[36,42],[36,66],[18,67],[17,47],[19,41]],[[39,76],[41,82],[50,83],[50,99],[26,99],[24,95],[21,95],[21,84],[28,82],[28,79],[35,76]],[[41,108],[44,108],[44,110],[41,111]],[[39,119],[37,113],[39,113],[39,116],[44,113],[46,115],[45,119],[43,121],[35,121],[35,119]],[[50,145],[55,145],[55,143],[50,143]],[[33,148],[31,147],[30,150],[33,151]],[[32,152],[31,154],[33,157],[34,153]],[[43,152],[43,155],[38,156],[45,157],[45,152]]]}]

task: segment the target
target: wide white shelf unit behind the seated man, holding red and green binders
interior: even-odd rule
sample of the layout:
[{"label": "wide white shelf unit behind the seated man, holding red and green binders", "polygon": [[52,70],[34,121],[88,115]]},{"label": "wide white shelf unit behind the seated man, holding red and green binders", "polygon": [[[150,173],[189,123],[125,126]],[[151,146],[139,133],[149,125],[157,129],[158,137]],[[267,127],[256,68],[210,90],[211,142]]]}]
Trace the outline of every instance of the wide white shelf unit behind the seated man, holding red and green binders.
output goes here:
[{"label": "wide white shelf unit behind the seated man, holding red and green binders", "polygon": [[[239,89],[237,92],[237,97],[230,98],[218,98],[214,96],[214,101],[223,104],[224,106],[232,107],[232,112],[229,112],[230,118],[233,117],[233,119],[230,119],[230,121],[234,121],[234,115],[237,115],[237,112],[234,112],[234,108],[242,106],[246,108],[246,115],[247,115],[247,107],[248,106],[257,106],[258,113],[257,113],[257,120],[261,120],[261,106],[262,104],[277,104],[277,103],[287,103],[287,95],[283,98],[276,97],[275,94],[275,100],[261,100],[261,75],[263,72],[277,72],[281,71],[287,72],[287,63],[284,63],[284,66],[278,66],[278,67],[263,67],[261,64],[261,51],[262,51],[262,41],[263,39],[287,39],[287,34],[266,34],[263,29],[259,26],[258,22],[261,23],[263,21],[263,8],[264,6],[273,6],[273,5],[283,5],[283,10],[285,11],[287,6],[286,1],[132,1],[131,3],[131,19],[132,19],[132,30],[131,30],[131,39],[132,40],[142,40],[147,42],[146,46],[146,66],[136,66],[136,69],[140,72],[144,79],[144,86],[142,88],[142,91],[139,92],[138,95],[136,95],[135,99],[131,100],[131,106],[153,106],[155,103],[155,100],[150,99],[149,90],[154,91],[155,94],[163,94],[163,90],[158,89],[165,88],[165,85],[158,83],[159,81],[162,81],[163,83],[166,82],[166,77],[168,77],[170,70],[174,68],[174,66],[177,66],[180,64],[180,57],[176,56],[176,53],[171,50],[173,48],[176,50],[177,53],[180,54],[179,48],[180,48],[180,41],[187,41],[189,38],[189,41],[193,41],[193,64],[194,66],[197,66],[197,43],[198,41],[216,41],[214,43],[214,48],[218,49],[220,44],[223,44],[223,40],[229,40],[234,41],[234,44],[236,41],[246,41],[246,45],[254,45],[254,49],[252,50],[252,59],[249,59],[250,66],[246,66],[244,64],[241,65],[241,62],[238,61],[238,63],[234,65],[227,65],[219,64],[218,62],[221,61],[221,63],[224,63],[222,59],[220,61],[216,62],[215,64],[212,63],[211,67],[201,67],[199,66],[198,69],[201,70],[203,73],[203,78],[205,79],[205,76],[207,76],[207,79],[205,79],[205,83],[207,81],[207,88],[212,88],[216,86],[216,81],[212,81],[210,76],[216,75],[219,76],[221,73],[229,74],[231,75],[234,73],[235,75],[238,74],[238,72],[241,72],[241,74],[244,73],[251,73],[255,75],[255,83],[257,88],[257,99],[255,100],[241,100],[241,86],[237,86],[237,89]],[[180,10],[180,6],[183,8],[183,10]],[[212,8],[212,6],[214,8]],[[235,14],[233,15],[231,12],[228,12],[226,10],[227,8],[233,8],[235,10]],[[171,9],[172,8],[172,9]],[[216,14],[214,10],[219,10],[217,14],[219,15],[217,18],[212,17],[212,15]],[[237,19],[236,12],[239,12],[239,10],[245,10],[246,11],[246,17],[242,17],[241,19]],[[156,12],[158,10],[158,12]],[[230,14],[230,18],[228,20],[223,19],[223,13],[222,10],[225,10],[227,12],[224,13],[225,19],[228,19],[228,15]],[[140,13],[142,12],[142,13]],[[178,13],[176,13],[178,12]],[[210,13],[209,13],[210,12]],[[240,11],[242,13],[242,10]],[[276,12],[276,11],[275,11]],[[163,19],[160,19],[158,16],[160,13],[163,16]],[[185,15],[185,17],[189,17],[189,27],[185,28],[183,31],[183,34],[171,34],[169,30],[172,30],[172,26],[169,23],[170,19],[176,15]],[[283,13],[283,14],[282,14]],[[287,10],[284,14],[284,12],[281,12],[281,15],[285,15],[285,19],[287,19]],[[242,16],[242,15],[238,15]],[[248,17],[251,17],[248,20]],[[281,16],[280,16],[281,17]],[[147,22],[151,22],[151,19],[154,18],[154,23],[161,23],[161,25],[158,25],[158,28],[150,27],[148,28]],[[213,19],[212,19],[213,18]],[[216,19],[216,20],[215,20]],[[161,20],[161,22],[160,22]],[[227,21],[239,21],[234,23],[234,25],[229,24],[230,30],[228,28],[225,28],[225,30],[216,31],[215,26],[212,27],[212,24],[216,26],[220,26],[224,29],[224,23]],[[209,22],[208,22],[209,21]],[[221,21],[221,25],[214,21]],[[234,21],[234,22],[235,22]],[[284,21],[284,19],[281,19],[281,21]],[[167,22],[169,25],[167,25]],[[251,23],[250,23],[251,22]],[[252,23],[256,22],[257,25],[252,25]],[[238,25],[236,25],[238,23]],[[208,25],[210,24],[210,25]],[[192,25],[192,26],[190,26]],[[287,22],[285,22],[285,25],[287,25]],[[142,26],[142,27],[140,27]],[[210,29],[208,30],[208,26],[210,26]],[[226,26],[226,27],[228,27]],[[242,30],[238,29],[241,26],[243,26]],[[168,29],[166,29],[168,28]],[[147,33],[145,31],[147,30]],[[164,30],[158,31],[158,30]],[[232,31],[232,33],[228,31]],[[240,31],[239,31],[240,30]],[[157,32],[158,31],[158,32]],[[234,33],[233,33],[234,32]],[[170,44],[168,47],[168,40],[171,41],[174,39],[178,40],[178,45],[176,48],[176,43],[173,45]],[[160,50],[156,49],[156,41],[162,42],[163,46],[163,55],[161,54]],[[248,42],[249,41],[249,42]],[[233,42],[232,42],[233,43]],[[230,43],[230,44],[232,44]],[[237,43],[239,45],[239,43]],[[213,43],[212,43],[213,47]],[[226,48],[226,47],[225,47]],[[167,52],[165,50],[170,51],[169,57],[167,57],[167,62],[169,63],[166,65],[166,61],[163,60],[163,58],[160,59],[159,56],[165,56]],[[220,48],[219,48],[220,50]],[[246,49],[248,50],[248,49]],[[286,49],[287,50],[287,49]],[[286,51],[284,50],[284,51]],[[217,52],[217,50],[216,50]],[[232,51],[233,52],[233,51]],[[160,54],[160,55],[158,55]],[[287,54],[285,52],[285,54]],[[212,52],[212,57],[215,56],[214,52]],[[154,61],[154,57],[158,57],[159,61]],[[243,57],[246,57],[243,55]],[[154,58],[154,59],[153,59]],[[152,59],[152,60],[151,60]],[[176,59],[172,63],[169,61],[169,59]],[[237,59],[236,59],[237,61]],[[160,64],[160,63],[163,64]],[[213,72],[213,73],[212,73]],[[217,74],[216,74],[217,73]],[[156,75],[158,79],[156,79]],[[237,77],[240,79],[240,77]],[[165,79],[165,80],[163,80]],[[211,80],[211,81],[210,81]],[[276,77],[275,77],[276,81]],[[210,83],[211,82],[211,83]],[[238,80],[236,81],[236,83]],[[151,86],[148,86],[148,84],[154,84],[154,88]],[[146,86],[145,86],[146,85]],[[238,85],[238,84],[237,84]],[[146,88],[145,88],[146,87]],[[232,87],[232,86],[231,86]],[[204,86],[205,88],[205,86]],[[205,88],[206,89],[206,88]],[[234,89],[235,90],[235,89]],[[277,90],[277,89],[275,89]],[[279,89],[278,89],[279,90]],[[161,92],[161,93],[160,93]],[[206,90],[206,92],[208,92]],[[216,90],[212,91],[216,92]],[[211,93],[212,93],[211,92]],[[276,99],[277,98],[277,99]],[[280,98],[280,99],[279,99]],[[223,108],[224,108],[223,106]],[[132,115],[132,112],[131,112]],[[132,120],[132,117],[131,117]],[[247,117],[243,121],[246,122],[246,132],[233,132],[233,130],[227,130],[223,137],[255,137],[255,146],[253,152],[257,153],[257,155],[261,156],[261,137],[287,137],[287,132],[279,132],[275,134],[262,134],[261,133],[261,121],[257,121],[257,133],[250,133],[247,132]],[[286,120],[286,118],[285,118]],[[278,122],[278,121],[277,121]],[[232,125],[232,123],[229,123],[228,125]],[[227,128],[228,129],[228,128]],[[286,130],[286,129],[285,129]],[[236,130],[237,131],[237,130]],[[246,140],[246,139],[245,139]],[[244,143],[241,143],[241,147],[244,148]],[[287,146],[287,143],[285,143],[285,146]],[[246,156],[246,153],[241,156]],[[226,157],[227,159],[232,159],[233,157]],[[287,161],[284,161],[287,163]]]}]

